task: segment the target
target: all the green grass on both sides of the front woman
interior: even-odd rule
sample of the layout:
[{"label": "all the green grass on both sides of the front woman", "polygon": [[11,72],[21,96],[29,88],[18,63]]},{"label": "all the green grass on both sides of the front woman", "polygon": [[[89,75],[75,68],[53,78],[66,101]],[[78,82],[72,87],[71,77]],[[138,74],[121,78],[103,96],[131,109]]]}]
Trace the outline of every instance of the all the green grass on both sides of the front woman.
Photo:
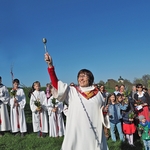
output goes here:
[{"label": "all the green grass on both sides of the front woman", "polygon": [[[14,136],[10,132],[6,132],[3,137],[0,137],[0,150],[60,150],[63,137],[50,138],[47,134],[45,138],[37,138],[37,134],[33,133],[32,113],[29,106],[29,98],[27,96],[28,90],[25,89],[24,91],[27,97],[25,115],[28,132],[23,138],[20,136]],[[127,142],[122,143],[119,140],[112,142],[112,140],[109,139],[107,143],[110,150],[144,150],[143,144],[137,134],[134,136],[135,148],[129,146]]]}]

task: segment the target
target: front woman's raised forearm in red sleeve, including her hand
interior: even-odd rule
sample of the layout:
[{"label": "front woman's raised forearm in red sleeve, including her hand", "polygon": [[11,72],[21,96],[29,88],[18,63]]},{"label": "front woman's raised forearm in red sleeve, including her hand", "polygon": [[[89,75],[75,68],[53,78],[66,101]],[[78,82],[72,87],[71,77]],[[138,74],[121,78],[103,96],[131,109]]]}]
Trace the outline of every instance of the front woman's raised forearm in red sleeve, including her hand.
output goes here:
[{"label": "front woman's raised forearm in red sleeve, including her hand", "polygon": [[55,73],[55,69],[54,69],[53,62],[52,62],[52,57],[48,53],[45,54],[45,61],[48,64],[48,73],[49,73],[52,85],[55,89],[58,89],[58,78]]}]

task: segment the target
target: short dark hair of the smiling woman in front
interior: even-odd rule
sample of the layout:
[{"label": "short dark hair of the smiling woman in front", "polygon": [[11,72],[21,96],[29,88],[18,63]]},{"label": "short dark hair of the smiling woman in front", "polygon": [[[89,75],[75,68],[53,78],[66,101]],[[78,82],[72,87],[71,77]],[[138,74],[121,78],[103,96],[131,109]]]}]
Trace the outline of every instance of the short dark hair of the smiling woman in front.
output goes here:
[{"label": "short dark hair of the smiling woman in front", "polygon": [[88,79],[89,79],[89,86],[92,86],[93,85],[93,82],[94,82],[94,76],[93,76],[93,73],[90,71],[90,70],[87,70],[87,69],[81,69],[79,72],[78,72],[78,75],[77,75],[77,78],[79,78],[79,75],[81,73],[84,73],[88,76]]}]

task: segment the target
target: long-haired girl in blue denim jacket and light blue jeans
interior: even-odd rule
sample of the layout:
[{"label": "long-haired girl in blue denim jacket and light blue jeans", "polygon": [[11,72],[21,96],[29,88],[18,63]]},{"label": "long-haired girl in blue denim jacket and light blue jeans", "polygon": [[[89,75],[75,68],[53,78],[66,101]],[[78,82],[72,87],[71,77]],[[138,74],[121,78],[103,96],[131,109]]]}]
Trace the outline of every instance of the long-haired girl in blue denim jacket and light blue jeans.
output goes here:
[{"label": "long-haired girl in blue denim jacket and light blue jeans", "polygon": [[122,126],[121,126],[121,110],[126,110],[128,105],[122,106],[120,103],[116,102],[116,95],[112,93],[108,96],[108,113],[109,113],[109,121],[110,121],[110,134],[112,141],[116,141],[115,135],[115,126],[119,132],[119,137],[121,141],[124,141],[124,135],[122,133]]}]

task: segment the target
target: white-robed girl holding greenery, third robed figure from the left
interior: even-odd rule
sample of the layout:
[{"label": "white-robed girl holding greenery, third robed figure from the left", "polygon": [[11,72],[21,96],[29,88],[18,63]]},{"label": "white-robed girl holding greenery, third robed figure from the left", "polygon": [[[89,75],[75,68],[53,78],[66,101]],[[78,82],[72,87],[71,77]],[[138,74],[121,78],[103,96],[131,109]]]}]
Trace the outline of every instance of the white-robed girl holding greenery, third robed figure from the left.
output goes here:
[{"label": "white-robed girl holding greenery, third robed figure from the left", "polygon": [[32,111],[33,131],[37,132],[38,137],[44,137],[44,133],[48,133],[46,95],[44,91],[40,91],[40,82],[33,83],[33,91],[30,98],[30,108]]}]

